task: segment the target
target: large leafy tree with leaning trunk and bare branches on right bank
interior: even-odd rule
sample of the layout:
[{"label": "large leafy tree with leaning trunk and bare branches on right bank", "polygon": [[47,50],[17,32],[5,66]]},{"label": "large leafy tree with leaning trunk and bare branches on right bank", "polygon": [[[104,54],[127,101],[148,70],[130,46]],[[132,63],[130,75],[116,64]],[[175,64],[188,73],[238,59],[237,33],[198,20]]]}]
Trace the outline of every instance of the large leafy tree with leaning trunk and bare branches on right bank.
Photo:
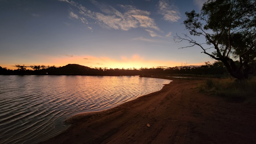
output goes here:
[{"label": "large leafy tree with leaning trunk and bare branches on right bank", "polygon": [[[183,24],[190,35],[204,36],[206,43],[198,43],[187,34],[174,40],[188,41],[187,47],[199,46],[202,53],[221,61],[231,76],[248,79],[249,64],[256,57],[255,0],[208,0],[200,14],[195,10],[185,14]],[[239,59],[239,65],[233,59]]]}]

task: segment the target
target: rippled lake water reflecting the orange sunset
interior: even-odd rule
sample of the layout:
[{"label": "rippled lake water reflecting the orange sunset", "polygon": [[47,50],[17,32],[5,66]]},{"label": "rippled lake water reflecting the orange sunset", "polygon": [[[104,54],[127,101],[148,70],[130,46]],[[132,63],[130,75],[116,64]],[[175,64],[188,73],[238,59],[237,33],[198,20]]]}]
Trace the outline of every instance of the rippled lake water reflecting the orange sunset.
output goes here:
[{"label": "rippled lake water reflecting the orange sunset", "polygon": [[38,143],[65,118],[161,90],[170,80],[138,76],[0,75],[0,143]]}]

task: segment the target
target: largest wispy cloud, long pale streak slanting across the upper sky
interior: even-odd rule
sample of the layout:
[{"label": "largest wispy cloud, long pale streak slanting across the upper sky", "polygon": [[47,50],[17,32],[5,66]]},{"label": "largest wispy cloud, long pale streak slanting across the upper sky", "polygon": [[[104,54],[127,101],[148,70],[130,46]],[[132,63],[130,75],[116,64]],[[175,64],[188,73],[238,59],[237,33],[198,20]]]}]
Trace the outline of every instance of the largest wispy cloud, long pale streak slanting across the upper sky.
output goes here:
[{"label": "largest wispy cloud, long pale streak slanting across the upper sky", "polygon": [[[137,9],[131,5],[118,5],[124,10],[124,12],[120,12],[109,5],[91,0],[92,4],[101,10],[101,12],[92,12],[79,3],[68,0],[59,1],[68,2],[72,6],[76,7],[78,13],[75,14],[73,11],[71,11],[69,14],[70,17],[76,18],[85,24],[98,24],[103,28],[113,28],[120,30],[129,30],[131,28],[142,27],[145,29],[154,29],[160,31],[160,29],[155,24],[154,19],[150,18],[150,12]],[[88,23],[84,17],[93,19],[95,22]],[[88,28],[92,27],[89,26]]]}]

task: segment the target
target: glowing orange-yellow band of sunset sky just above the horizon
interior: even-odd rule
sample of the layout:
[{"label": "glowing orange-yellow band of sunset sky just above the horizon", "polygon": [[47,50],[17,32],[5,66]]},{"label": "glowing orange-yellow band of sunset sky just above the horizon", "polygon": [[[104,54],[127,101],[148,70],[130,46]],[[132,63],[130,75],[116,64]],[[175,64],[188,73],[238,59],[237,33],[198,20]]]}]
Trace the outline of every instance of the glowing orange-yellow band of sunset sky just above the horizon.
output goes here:
[{"label": "glowing orange-yellow band of sunset sky just above the horizon", "polygon": [[[67,64],[79,64],[83,66],[87,66],[90,68],[94,67],[101,67],[101,68],[118,68],[118,69],[130,69],[130,68],[156,68],[156,67],[176,67],[181,65],[204,65],[205,62],[199,62],[199,63],[190,63],[190,62],[178,62],[178,61],[172,61],[172,60],[147,60],[144,57],[139,56],[138,54],[134,54],[132,56],[120,56],[118,59],[113,59],[109,57],[94,57],[94,56],[67,56],[67,55],[61,55],[61,56],[47,56],[47,59],[45,59],[46,56],[44,55],[37,55],[37,60],[34,61],[34,63],[31,63],[30,61],[20,61],[19,63],[0,63],[0,66],[2,68],[7,68],[10,70],[17,69],[15,67],[15,64],[19,65],[25,65],[27,66],[27,69],[31,69],[30,65],[45,65],[46,67],[55,65],[56,67],[63,67]],[[44,61],[44,63],[42,63]],[[213,63],[214,61],[211,61]]]}]

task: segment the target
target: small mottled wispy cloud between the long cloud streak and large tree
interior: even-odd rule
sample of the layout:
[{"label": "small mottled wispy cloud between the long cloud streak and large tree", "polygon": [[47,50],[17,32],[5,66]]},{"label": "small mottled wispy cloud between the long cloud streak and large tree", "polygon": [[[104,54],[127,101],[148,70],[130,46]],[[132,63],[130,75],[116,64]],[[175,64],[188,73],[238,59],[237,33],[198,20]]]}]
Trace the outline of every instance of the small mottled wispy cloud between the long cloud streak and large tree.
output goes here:
[{"label": "small mottled wispy cloud between the long cloud streak and large tree", "polygon": [[166,0],[160,0],[157,6],[158,13],[164,16],[164,20],[169,22],[177,22],[180,19],[180,13],[177,10],[177,7],[168,4]]}]

